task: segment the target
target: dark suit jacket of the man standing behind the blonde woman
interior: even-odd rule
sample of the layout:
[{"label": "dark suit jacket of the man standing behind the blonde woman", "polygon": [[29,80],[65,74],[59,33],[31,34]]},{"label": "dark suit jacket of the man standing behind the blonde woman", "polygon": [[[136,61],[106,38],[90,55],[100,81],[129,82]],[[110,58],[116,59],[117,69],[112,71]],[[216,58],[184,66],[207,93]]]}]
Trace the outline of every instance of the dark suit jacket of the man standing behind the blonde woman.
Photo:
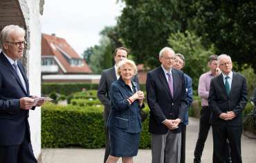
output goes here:
[{"label": "dark suit jacket of the man standing behind the blonde woman", "polygon": [[[109,118],[110,111],[110,100],[109,100],[109,89],[111,84],[116,81],[116,72],[115,67],[111,67],[109,69],[104,69],[102,75],[100,77],[100,84],[98,86],[98,98],[100,102],[104,105],[104,120],[107,122],[107,118]],[[132,80],[138,83],[138,76],[134,76]]]}]

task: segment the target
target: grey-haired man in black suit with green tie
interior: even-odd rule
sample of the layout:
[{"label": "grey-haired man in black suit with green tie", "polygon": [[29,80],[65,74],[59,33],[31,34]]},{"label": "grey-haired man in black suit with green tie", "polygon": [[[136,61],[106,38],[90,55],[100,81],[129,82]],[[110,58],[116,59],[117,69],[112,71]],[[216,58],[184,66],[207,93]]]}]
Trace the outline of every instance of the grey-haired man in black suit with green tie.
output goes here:
[{"label": "grey-haired man in black suit with green tie", "polygon": [[212,111],[213,163],[226,162],[226,140],[232,163],[241,163],[242,111],[247,102],[246,78],[232,72],[230,56],[218,57],[221,74],[210,82],[209,107]]}]

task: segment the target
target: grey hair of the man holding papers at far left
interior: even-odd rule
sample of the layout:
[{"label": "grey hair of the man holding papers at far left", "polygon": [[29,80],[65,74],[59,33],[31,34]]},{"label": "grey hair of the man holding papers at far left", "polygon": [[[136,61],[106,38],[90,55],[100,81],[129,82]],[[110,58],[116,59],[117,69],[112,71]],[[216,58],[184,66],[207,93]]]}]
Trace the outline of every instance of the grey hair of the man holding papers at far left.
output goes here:
[{"label": "grey hair of the man holding papers at far left", "polygon": [[7,25],[3,28],[3,30],[0,33],[0,48],[3,49],[3,43],[6,43],[8,39],[10,39],[10,34],[12,32],[17,32],[21,34],[26,34],[26,31],[23,28],[20,28],[19,25]]}]

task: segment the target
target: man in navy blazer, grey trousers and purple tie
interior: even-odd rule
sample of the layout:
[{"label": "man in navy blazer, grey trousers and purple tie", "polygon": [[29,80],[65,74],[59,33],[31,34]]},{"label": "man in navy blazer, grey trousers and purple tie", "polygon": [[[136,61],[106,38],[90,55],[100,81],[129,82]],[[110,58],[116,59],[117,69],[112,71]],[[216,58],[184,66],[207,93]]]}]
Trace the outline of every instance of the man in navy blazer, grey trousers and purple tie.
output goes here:
[{"label": "man in navy blazer, grey trousers and purple tie", "polygon": [[147,102],[152,133],[152,163],[180,162],[181,123],[188,109],[185,77],[173,69],[175,53],[164,47],[159,53],[160,67],[147,73]]}]

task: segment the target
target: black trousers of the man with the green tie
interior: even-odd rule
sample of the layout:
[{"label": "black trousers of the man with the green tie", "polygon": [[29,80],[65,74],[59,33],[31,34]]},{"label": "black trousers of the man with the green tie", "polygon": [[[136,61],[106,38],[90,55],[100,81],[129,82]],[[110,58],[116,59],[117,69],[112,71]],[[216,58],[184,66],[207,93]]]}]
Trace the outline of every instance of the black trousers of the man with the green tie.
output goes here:
[{"label": "black trousers of the man with the green tie", "polygon": [[[241,126],[212,125],[213,136],[213,163],[227,162],[227,155],[231,156],[232,163],[241,163]],[[227,148],[228,140],[230,149]]]}]

